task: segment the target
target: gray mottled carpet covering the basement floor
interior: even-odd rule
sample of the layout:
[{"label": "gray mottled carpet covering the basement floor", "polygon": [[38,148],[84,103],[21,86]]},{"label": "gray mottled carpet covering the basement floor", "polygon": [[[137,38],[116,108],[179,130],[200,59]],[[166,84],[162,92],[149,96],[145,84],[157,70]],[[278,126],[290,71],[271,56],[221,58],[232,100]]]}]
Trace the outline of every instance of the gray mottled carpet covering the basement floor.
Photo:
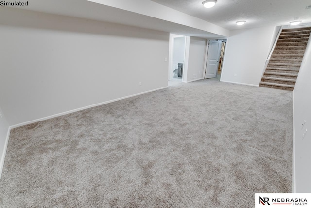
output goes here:
[{"label": "gray mottled carpet covering the basement floor", "polygon": [[255,207],[292,191],[292,92],[171,82],[11,131],[0,207]]}]

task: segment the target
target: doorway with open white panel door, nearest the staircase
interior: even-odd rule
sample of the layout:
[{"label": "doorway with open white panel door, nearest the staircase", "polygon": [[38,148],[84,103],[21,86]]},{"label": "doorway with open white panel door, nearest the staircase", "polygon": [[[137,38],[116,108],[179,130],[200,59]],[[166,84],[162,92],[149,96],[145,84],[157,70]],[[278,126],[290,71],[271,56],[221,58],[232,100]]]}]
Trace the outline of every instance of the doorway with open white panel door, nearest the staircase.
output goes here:
[{"label": "doorway with open white panel door, nearest the staircase", "polygon": [[226,42],[226,39],[208,41],[205,79],[217,78],[220,81]]}]

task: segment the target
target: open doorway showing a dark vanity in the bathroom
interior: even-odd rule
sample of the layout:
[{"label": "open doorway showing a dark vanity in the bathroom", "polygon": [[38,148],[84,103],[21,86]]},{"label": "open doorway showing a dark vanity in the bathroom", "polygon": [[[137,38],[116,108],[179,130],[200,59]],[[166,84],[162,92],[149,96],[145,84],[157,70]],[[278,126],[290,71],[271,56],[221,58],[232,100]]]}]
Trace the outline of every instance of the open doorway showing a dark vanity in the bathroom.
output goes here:
[{"label": "open doorway showing a dark vanity in the bathroom", "polygon": [[184,75],[186,36],[174,35],[172,41],[172,53],[169,58],[169,79],[182,82]]}]

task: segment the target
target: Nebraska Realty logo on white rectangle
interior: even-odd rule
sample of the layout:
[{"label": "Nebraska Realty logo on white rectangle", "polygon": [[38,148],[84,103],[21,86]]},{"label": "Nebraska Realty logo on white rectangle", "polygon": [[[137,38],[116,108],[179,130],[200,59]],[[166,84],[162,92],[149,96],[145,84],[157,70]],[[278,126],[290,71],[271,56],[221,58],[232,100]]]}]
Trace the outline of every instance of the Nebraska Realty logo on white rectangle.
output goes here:
[{"label": "Nebraska Realty logo on white rectangle", "polygon": [[256,193],[255,208],[263,206],[311,208],[311,193]]}]

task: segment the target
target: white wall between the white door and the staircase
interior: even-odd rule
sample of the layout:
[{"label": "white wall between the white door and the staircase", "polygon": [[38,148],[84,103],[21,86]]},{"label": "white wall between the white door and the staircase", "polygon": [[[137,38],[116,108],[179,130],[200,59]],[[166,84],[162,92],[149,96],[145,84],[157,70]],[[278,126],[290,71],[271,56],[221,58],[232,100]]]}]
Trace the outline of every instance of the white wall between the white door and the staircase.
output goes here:
[{"label": "white wall between the white door and the staircase", "polygon": [[269,26],[231,31],[221,81],[259,86],[274,30]]}]

